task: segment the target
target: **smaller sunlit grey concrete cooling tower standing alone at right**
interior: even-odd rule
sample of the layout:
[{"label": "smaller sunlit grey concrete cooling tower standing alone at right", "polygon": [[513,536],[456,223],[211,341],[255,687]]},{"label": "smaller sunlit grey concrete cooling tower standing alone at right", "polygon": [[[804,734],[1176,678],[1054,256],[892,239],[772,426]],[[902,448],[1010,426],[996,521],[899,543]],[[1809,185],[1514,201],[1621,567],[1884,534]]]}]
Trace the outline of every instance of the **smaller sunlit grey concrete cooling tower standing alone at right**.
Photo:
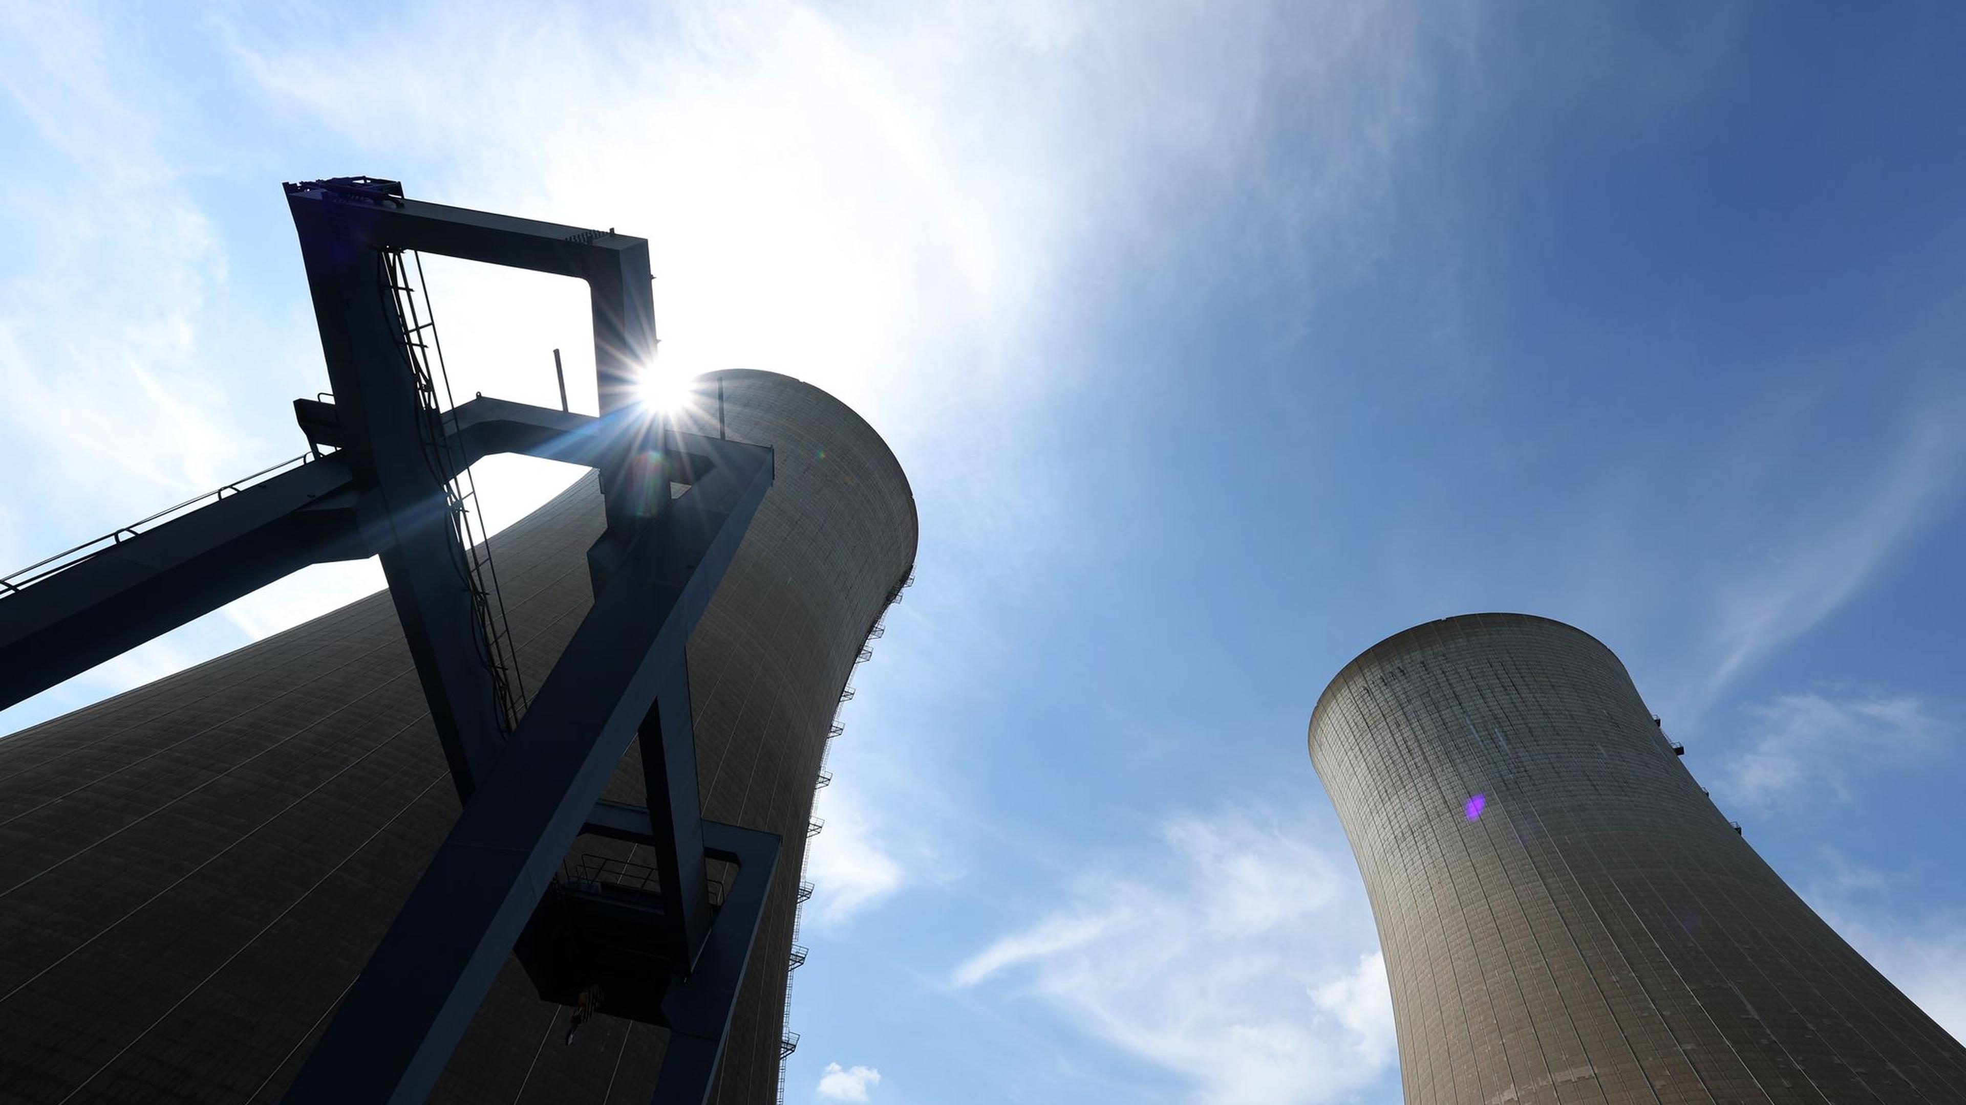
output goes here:
[{"label": "smaller sunlit grey concrete cooling tower standing alone at right", "polygon": [[1966,1050],[1830,930],[1569,625],[1417,625],[1309,726],[1412,1105],[1966,1101]]}]

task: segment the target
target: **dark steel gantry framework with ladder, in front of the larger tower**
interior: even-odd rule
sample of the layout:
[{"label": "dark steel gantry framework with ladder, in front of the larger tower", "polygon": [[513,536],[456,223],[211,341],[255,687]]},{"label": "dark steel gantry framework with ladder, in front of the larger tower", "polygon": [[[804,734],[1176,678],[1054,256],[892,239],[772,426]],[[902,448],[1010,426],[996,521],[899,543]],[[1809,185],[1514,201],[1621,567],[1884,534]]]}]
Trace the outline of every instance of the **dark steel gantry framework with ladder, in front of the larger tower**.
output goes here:
[{"label": "dark steel gantry framework with ladder, in front of the larger tower", "polygon": [[[543,999],[606,991],[609,1015],[666,1026],[655,1101],[696,1105],[781,842],[702,818],[686,645],[771,488],[771,448],[680,433],[635,403],[655,352],[645,240],[421,203],[374,177],[287,185],[287,204],[332,383],[332,401],[295,401],[309,456],[0,580],[0,708],[307,564],[379,556],[462,812],[287,1101],[423,1101],[517,952]],[[411,295],[417,254],[586,281],[600,415],[446,409]],[[598,468],[606,501],[594,608],[529,702],[460,525],[456,484],[495,452]],[[631,741],[643,806],[602,798]],[[653,877],[606,895],[556,881],[582,834],[649,847]],[[712,859],[737,867],[720,902]],[[609,940],[582,936],[598,908]]]}]

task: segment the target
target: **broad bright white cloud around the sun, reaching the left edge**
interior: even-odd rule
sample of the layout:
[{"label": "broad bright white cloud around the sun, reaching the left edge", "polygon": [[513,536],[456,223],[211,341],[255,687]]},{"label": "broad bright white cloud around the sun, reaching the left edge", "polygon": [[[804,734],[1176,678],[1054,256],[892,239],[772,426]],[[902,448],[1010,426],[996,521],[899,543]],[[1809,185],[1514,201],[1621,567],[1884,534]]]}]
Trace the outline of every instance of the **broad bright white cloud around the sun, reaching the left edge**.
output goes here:
[{"label": "broad bright white cloud around the sun, reaching the left edge", "polygon": [[[10,462],[47,458],[35,523],[79,513],[63,535],[88,537],[297,442],[244,395],[277,409],[318,385],[305,289],[228,307],[246,293],[226,283],[230,250],[265,242],[220,226],[195,181],[220,145],[228,165],[332,145],[360,165],[287,173],[399,173],[419,195],[647,234],[665,362],[788,372],[855,405],[918,478],[950,604],[993,602],[1046,543],[1075,541],[1042,494],[1062,474],[1040,444],[1083,383],[1060,334],[1115,265],[1176,271],[1166,228],[1197,214],[1180,193],[1223,181],[1258,191],[1233,189],[1241,214],[1258,212],[1250,238],[1294,250],[1290,265],[1357,254],[1429,87],[1416,8],[1020,2],[865,18],[755,0],[617,16],[433,2],[381,29],[309,8],[214,12],[212,57],[159,59],[132,24],[87,8],[10,14],[0,87],[37,145],[0,169],[16,244],[0,425]],[[433,55],[427,41],[448,45]],[[265,114],[220,132],[177,110],[185,67]],[[1292,104],[1290,118],[1268,104]],[[1274,126],[1294,132],[1288,173]],[[442,271],[458,389],[550,401],[558,346],[578,403],[586,319],[566,291]],[[568,478],[488,464],[493,527]],[[265,633],[313,611],[265,598],[234,621]]]}]

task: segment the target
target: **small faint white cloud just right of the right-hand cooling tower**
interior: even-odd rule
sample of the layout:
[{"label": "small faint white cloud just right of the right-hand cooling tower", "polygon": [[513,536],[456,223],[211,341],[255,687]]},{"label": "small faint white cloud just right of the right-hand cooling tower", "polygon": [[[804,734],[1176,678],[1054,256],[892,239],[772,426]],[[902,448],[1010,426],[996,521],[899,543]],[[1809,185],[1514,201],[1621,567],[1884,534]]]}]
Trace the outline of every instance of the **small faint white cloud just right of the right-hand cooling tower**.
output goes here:
[{"label": "small faint white cloud just right of the right-hand cooling tower", "polygon": [[1931,749],[1940,724],[1919,698],[1781,694],[1746,706],[1750,737],[1718,781],[1722,796],[1767,806],[1791,794],[1850,798],[1854,773]]}]

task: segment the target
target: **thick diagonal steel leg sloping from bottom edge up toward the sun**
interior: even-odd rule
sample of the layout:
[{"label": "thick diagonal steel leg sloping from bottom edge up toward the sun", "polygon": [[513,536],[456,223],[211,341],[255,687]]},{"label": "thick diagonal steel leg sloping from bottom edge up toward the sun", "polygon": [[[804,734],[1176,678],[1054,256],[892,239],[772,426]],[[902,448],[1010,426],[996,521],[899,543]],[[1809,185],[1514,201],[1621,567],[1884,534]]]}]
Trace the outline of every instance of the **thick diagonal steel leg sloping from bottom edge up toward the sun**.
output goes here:
[{"label": "thick diagonal steel leg sloping from bottom edge up toward the sun", "polygon": [[[753,446],[731,452],[731,460],[678,499],[680,505],[706,494],[704,515],[722,515],[720,525],[649,523],[611,558],[600,600],[301,1068],[287,1101],[413,1103],[429,1095],[655,708],[665,676],[680,665],[690,629],[771,486],[769,452]],[[670,733],[665,729],[663,737]],[[694,777],[672,783],[686,783],[694,796]],[[649,802],[653,828],[653,814],[661,808],[668,818],[672,798],[651,792]],[[665,865],[663,877],[672,879],[674,871]],[[720,948],[743,928],[733,924],[725,932],[723,920],[710,926]],[[749,954],[749,934],[741,942]]]}]

